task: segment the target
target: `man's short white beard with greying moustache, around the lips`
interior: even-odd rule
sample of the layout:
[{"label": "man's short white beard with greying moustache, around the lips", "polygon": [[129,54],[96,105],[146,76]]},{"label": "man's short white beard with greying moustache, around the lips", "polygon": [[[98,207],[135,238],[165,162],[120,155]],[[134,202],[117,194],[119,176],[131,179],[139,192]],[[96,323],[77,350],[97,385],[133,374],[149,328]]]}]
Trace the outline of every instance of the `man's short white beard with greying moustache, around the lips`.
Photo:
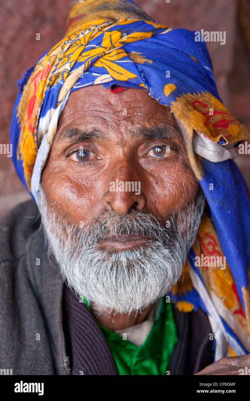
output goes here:
[{"label": "man's short white beard with greying moustache, around the lips", "polygon": [[[99,310],[128,313],[141,311],[167,294],[181,277],[187,253],[193,245],[205,196],[176,215],[170,228],[161,227],[148,211],[118,215],[104,211],[79,228],[47,206],[39,191],[39,211],[48,241],[63,279],[73,290],[98,304]],[[112,251],[100,248],[98,241],[107,236],[148,236],[150,240],[137,249]]]}]

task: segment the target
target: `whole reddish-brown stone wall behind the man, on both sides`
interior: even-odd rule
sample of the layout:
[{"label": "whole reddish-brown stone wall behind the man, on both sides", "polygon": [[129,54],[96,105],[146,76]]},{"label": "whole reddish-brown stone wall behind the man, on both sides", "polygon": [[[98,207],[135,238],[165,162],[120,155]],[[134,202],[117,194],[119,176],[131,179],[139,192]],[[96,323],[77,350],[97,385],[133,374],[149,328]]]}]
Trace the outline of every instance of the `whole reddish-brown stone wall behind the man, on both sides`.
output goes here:
[{"label": "whole reddish-brown stone wall behind the man, on both sides", "polygon": [[[226,31],[226,44],[207,43],[218,91],[226,107],[250,131],[250,52],[238,12],[247,0],[135,0],[154,20],[171,28]],[[68,0],[0,0],[0,143],[8,143],[16,81],[65,33]],[[36,34],[40,33],[40,41]],[[249,141],[248,141],[249,142]],[[250,155],[236,162],[250,187]],[[0,155],[0,216],[29,198],[10,158]]]}]

